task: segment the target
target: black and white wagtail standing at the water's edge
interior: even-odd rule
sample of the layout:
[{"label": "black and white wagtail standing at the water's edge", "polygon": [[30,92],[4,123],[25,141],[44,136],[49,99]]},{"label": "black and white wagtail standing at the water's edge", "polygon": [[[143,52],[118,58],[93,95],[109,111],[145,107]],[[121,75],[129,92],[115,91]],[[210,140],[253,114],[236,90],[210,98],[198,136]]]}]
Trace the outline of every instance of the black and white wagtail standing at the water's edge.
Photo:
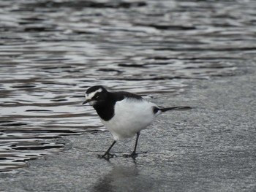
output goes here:
[{"label": "black and white wagtail standing at the water's edge", "polygon": [[113,136],[113,143],[99,158],[110,159],[116,157],[110,153],[117,141],[124,140],[136,135],[135,147],[131,154],[124,157],[135,159],[140,131],[149,126],[154,119],[169,110],[189,110],[192,107],[159,107],[142,96],[125,91],[110,92],[102,85],[94,85],[87,89],[86,100],[83,104],[89,103],[99,115],[103,125]]}]

